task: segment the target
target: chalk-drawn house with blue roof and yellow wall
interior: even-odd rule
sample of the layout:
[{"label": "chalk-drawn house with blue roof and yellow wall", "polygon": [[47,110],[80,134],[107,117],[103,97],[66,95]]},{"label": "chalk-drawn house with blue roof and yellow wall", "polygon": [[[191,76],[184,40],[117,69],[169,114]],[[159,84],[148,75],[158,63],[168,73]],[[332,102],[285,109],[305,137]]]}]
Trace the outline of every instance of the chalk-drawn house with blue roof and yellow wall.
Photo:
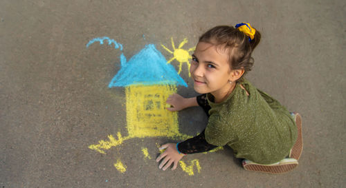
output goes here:
[{"label": "chalk-drawn house with blue roof and yellow wall", "polygon": [[125,87],[129,138],[180,135],[177,114],[165,109],[176,85],[188,85],[155,45],[146,45],[129,62],[120,58],[121,69],[109,87]]}]

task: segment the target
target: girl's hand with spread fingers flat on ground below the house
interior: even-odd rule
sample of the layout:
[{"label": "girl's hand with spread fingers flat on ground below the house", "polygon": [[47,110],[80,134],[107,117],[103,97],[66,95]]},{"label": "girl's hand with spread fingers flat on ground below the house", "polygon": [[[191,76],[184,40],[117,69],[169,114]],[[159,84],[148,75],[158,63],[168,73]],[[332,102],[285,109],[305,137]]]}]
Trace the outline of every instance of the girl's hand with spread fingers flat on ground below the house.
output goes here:
[{"label": "girl's hand with spread fingers flat on ground below the house", "polygon": [[[167,143],[165,145],[161,145],[161,147],[158,149],[166,149],[165,152],[156,158],[156,162],[163,159],[158,168],[165,171],[168,167],[170,167],[170,165],[172,165],[172,163],[174,163],[172,170],[176,169],[176,167],[178,167],[179,160],[183,158],[183,154],[179,154],[179,152],[176,150],[176,144]],[[165,166],[163,167],[163,165]]]}]

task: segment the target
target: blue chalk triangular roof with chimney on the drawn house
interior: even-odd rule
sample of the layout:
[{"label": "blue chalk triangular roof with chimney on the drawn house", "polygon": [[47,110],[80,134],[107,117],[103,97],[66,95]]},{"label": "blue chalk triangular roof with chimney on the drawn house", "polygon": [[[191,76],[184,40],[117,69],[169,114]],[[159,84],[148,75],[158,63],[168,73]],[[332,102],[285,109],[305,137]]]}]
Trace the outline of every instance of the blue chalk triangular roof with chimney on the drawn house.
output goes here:
[{"label": "blue chalk triangular roof with chimney on the drawn house", "polygon": [[145,45],[145,48],[132,56],[128,62],[122,54],[120,62],[121,68],[109,83],[109,87],[158,84],[188,87],[174,67],[156,50],[154,44]]}]

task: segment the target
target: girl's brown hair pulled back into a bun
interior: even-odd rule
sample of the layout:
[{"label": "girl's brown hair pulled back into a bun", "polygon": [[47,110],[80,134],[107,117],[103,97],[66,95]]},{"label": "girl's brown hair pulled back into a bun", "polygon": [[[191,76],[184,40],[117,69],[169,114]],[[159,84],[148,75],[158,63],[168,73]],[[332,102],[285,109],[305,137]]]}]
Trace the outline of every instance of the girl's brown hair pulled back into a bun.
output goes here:
[{"label": "girl's brown hair pulled back into a bun", "polygon": [[260,40],[261,34],[258,30],[256,30],[254,38],[250,41],[249,36],[244,32],[228,25],[211,28],[199,37],[199,42],[211,43],[224,48],[228,52],[228,63],[231,70],[244,69],[244,74],[250,71],[253,66],[254,61],[251,53],[260,43]]}]

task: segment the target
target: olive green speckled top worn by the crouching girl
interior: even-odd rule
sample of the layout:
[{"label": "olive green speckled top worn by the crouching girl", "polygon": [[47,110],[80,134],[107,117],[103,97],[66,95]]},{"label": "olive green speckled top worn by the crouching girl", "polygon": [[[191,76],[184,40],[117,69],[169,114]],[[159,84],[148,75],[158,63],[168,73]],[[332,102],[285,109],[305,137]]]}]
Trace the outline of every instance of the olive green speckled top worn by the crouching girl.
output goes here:
[{"label": "olive green speckled top worn by the crouching girl", "polygon": [[211,107],[205,132],[208,143],[228,145],[237,158],[260,164],[277,163],[289,154],[297,128],[291,114],[271,96],[243,79],[222,103],[213,103],[211,94],[207,97]]}]

